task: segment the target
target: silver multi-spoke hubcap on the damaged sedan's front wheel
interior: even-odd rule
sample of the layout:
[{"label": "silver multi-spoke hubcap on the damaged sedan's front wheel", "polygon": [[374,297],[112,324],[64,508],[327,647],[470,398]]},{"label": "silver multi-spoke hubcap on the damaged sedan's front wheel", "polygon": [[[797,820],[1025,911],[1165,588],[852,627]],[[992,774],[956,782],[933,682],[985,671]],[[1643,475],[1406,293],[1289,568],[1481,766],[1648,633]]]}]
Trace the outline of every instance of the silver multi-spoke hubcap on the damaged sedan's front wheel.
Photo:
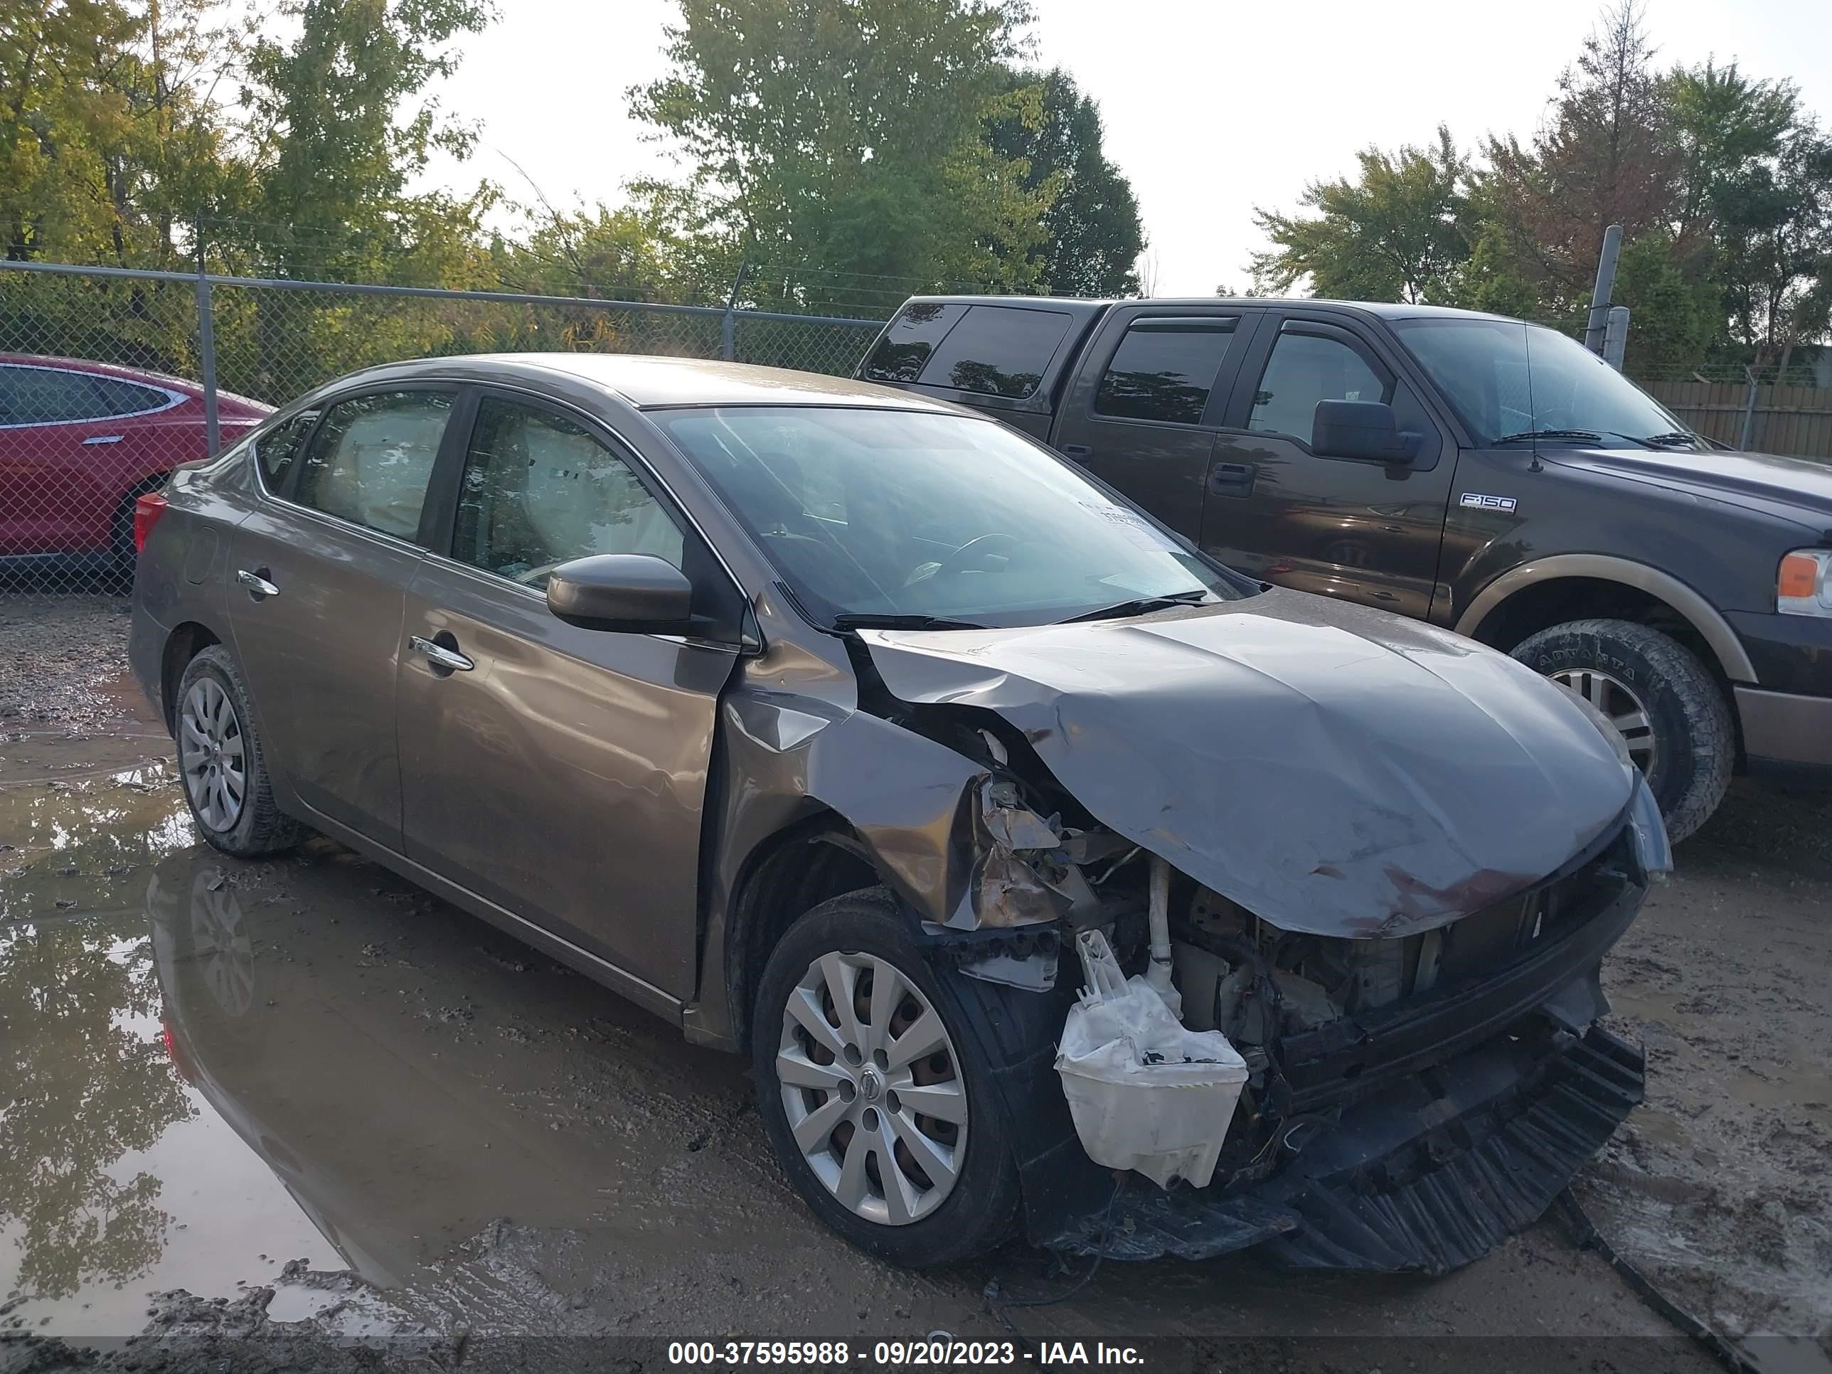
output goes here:
[{"label": "silver multi-spoke hubcap on the damaged sedan's front wheel", "polygon": [[967,1085],[929,998],[876,954],[823,954],[782,1009],[777,1083],[808,1167],[852,1213],[918,1222],[967,1158]]}]

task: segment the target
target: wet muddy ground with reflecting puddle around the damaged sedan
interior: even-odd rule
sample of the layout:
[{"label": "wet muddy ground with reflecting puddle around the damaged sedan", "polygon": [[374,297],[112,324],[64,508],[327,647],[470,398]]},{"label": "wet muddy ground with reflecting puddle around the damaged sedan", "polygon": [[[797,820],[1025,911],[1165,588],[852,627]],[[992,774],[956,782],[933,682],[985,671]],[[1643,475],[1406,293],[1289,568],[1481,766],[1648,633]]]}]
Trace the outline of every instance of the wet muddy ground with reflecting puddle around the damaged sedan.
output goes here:
[{"label": "wet muddy ground with reflecting puddle around the damaged sedan", "polygon": [[[328,841],[200,846],[121,612],[0,597],[0,1370],[857,1350],[1004,1337],[991,1279],[1070,1286],[1019,1248],[863,1257],[790,1191],[736,1059]],[[1823,1369],[1832,799],[1739,784],[1678,863],[1605,967],[1649,1101],[1577,1193],[1682,1308]],[[1555,1218],[1438,1281],[1112,1264],[1006,1317],[1193,1337],[1165,1367],[1713,1369]]]}]

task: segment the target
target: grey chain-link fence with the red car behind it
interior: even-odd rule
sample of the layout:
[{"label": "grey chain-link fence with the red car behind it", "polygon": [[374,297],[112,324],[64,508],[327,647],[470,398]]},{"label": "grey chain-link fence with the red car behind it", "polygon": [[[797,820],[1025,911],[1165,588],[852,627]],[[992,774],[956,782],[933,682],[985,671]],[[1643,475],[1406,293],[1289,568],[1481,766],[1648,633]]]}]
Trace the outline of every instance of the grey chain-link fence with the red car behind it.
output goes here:
[{"label": "grey chain-link fence with the red car behind it", "polygon": [[0,592],[119,594],[134,500],[377,363],[660,354],[846,376],[881,321],[0,264]]}]

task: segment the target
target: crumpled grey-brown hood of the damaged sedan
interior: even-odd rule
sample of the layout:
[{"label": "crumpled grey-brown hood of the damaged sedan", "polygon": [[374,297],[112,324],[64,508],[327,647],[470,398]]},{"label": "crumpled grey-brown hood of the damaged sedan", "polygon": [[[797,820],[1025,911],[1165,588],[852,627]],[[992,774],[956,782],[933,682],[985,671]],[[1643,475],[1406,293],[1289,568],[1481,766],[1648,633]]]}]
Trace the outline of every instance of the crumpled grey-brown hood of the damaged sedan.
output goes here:
[{"label": "crumpled grey-brown hood of the damaged sedan", "polygon": [[997,711],[1096,819],[1288,931],[1444,925],[1555,872],[1630,797],[1563,687],[1301,592],[861,639],[894,696]]}]

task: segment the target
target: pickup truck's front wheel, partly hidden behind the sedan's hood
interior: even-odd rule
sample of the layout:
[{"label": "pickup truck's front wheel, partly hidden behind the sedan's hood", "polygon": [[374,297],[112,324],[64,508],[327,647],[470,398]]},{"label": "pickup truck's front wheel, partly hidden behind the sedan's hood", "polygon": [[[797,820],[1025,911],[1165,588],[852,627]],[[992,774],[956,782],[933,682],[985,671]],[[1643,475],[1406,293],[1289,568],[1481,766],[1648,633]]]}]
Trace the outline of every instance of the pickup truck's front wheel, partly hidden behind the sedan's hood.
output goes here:
[{"label": "pickup truck's front wheel, partly hidden behind the sedan's hood", "polygon": [[1673,839],[1724,801],[1737,762],[1729,705],[1684,645],[1647,625],[1594,619],[1541,630],[1513,656],[1616,722]]}]

